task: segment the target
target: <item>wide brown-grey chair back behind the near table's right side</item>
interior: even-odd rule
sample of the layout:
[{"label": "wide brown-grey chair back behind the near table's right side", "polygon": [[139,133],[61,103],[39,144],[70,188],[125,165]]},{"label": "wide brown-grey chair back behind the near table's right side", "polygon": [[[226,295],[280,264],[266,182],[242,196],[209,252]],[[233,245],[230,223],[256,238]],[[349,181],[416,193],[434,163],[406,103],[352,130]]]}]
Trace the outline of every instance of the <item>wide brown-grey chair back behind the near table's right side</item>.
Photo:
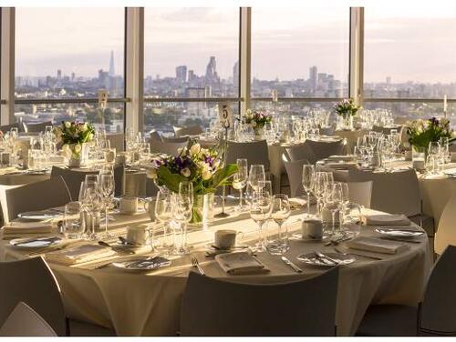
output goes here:
[{"label": "wide brown-grey chair back behind the near table's right side", "polygon": [[348,182],[372,181],[370,207],[391,214],[416,216],[421,213],[418,177],[413,169],[398,172],[371,172],[350,169]]}]

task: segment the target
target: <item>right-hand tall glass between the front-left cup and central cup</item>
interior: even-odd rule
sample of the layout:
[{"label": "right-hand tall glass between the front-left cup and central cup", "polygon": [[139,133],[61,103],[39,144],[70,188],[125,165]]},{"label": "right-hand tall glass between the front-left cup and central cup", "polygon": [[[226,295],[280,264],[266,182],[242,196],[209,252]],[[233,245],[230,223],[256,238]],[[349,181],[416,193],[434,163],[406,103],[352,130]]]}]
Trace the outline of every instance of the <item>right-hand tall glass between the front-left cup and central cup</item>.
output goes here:
[{"label": "right-hand tall glass between the front-left cup and central cup", "polygon": [[174,196],[172,206],[172,216],[181,226],[181,246],[178,247],[177,254],[187,254],[187,225],[192,219],[193,211],[193,185],[191,182],[181,182],[179,193]]}]

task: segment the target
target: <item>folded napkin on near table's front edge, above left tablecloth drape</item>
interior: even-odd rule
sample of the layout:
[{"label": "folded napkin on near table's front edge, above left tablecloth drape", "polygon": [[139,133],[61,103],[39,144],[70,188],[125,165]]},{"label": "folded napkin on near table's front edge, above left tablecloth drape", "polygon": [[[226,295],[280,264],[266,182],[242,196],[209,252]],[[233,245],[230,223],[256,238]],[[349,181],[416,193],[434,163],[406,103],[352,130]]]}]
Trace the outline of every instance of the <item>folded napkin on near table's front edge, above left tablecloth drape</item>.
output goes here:
[{"label": "folded napkin on near table's front edge, above left tablecloth drape", "polygon": [[97,261],[105,257],[112,257],[116,252],[109,247],[98,245],[81,245],[62,249],[57,252],[47,253],[49,262],[56,262],[67,266]]}]

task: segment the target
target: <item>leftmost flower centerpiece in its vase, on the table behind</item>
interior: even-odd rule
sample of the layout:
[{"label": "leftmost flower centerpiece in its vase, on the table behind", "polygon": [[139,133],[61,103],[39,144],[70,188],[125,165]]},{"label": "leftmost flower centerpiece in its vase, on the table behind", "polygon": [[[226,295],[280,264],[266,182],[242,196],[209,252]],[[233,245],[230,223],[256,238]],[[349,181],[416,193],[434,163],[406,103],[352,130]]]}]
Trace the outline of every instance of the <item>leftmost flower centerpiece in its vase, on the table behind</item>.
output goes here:
[{"label": "leftmost flower centerpiece in its vase, on the table behind", "polygon": [[67,156],[68,165],[78,167],[81,164],[84,145],[93,140],[95,129],[83,122],[63,121],[54,128],[57,142],[63,144],[62,154]]}]

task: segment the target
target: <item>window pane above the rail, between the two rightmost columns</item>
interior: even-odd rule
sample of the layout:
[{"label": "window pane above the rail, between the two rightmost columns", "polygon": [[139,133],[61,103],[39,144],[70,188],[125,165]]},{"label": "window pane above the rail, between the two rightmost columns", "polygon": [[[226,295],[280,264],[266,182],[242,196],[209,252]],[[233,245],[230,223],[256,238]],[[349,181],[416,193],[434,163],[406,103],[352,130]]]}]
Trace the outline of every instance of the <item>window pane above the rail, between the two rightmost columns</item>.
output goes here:
[{"label": "window pane above the rail, between the two rightmost columns", "polygon": [[348,7],[252,9],[252,97],[348,94]]}]

